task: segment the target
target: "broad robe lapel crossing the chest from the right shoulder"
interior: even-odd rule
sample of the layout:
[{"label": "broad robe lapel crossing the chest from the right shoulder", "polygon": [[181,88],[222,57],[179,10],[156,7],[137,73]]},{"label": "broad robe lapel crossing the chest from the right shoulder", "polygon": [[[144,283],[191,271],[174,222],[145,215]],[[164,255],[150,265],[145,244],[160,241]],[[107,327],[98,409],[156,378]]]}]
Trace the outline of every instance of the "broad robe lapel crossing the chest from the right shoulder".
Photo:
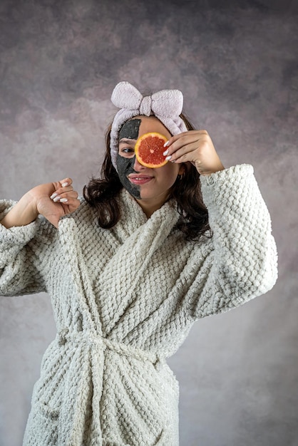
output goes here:
[{"label": "broad robe lapel crossing the chest from the right shoulder", "polygon": [[[129,197],[130,198],[130,197]],[[113,327],[120,318],[123,318],[125,310],[136,299],[136,289],[140,281],[148,276],[148,263],[155,251],[160,248],[171,230],[178,221],[179,214],[170,203],[154,212],[150,219],[144,221],[143,211],[131,198],[124,202],[124,212],[130,217],[119,222],[118,234],[124,234],[129,230],[127,238],[123,240],[115,255],[108,261],[106,268],[101,272],[100,301],[101,318],[105,336],[113,338]],[[129,208],[128,208],[129,204]],[[138,209],[134,209],[135,206]],[[129,213],[130,212],[130,213]],[[126,324],[123,337],[132,327],[133,321]]]}]

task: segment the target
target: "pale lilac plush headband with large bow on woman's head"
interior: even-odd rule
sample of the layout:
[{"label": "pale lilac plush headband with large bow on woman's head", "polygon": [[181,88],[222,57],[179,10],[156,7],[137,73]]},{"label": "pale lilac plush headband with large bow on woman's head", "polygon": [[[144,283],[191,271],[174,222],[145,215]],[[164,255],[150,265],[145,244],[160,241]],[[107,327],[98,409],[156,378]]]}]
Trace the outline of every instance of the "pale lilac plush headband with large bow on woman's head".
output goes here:
[{"label": "pale lilac plush headband with large bow on woman's head", "polygon": [[123,81],[115,86],[111,100],[116,107],[120,108],[111,128],[111,158],[115,170],[117,170],[120,128],[134,116],[156,116],[168,128],[171,135],[187,131],[183,119],[179,116],[183,108],[183,94],[180,90],[160,90],[153,95],[143,97],[137,88]]}]

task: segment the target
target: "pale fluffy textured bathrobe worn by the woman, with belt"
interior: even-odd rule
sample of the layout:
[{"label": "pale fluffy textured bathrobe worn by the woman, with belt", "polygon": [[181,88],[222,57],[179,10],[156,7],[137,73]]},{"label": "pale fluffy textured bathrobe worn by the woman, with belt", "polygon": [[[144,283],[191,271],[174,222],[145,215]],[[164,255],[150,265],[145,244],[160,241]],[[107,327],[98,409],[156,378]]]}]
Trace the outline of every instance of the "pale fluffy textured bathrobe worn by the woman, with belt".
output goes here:
[{"label": "pale fluffy textured bathrobe worn by the woman, with belt", "polygon": [[[48,291],[58,334],[34,387],[24,445],[177,446],[178,383],[165,363],[197,318],[235,308],[277,279],[252,167],[202,177],[211,239],[185,242],[175,207],[150,219],[123,190],[101,229],[86,202],[58,230],[0,225],[0,294]],[[13,205],[2,201],[0,218]]]}]

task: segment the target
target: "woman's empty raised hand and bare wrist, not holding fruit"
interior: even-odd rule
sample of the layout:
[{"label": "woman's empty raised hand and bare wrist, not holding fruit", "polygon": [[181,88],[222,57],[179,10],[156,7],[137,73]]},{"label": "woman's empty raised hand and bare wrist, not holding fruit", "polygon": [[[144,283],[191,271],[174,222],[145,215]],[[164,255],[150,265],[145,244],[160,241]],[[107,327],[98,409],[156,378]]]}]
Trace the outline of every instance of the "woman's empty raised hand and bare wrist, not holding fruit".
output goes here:
[{"label": "woman's empty raised hand and bare wrist, not holding fruit", "polygon": [[1,220],[1,224],[6,228],[25,226],[41,214],[58,227],[59,219],[71,214],[79,205],[78,192],[73,190],[71,178],[65,178],[29,190]]}]

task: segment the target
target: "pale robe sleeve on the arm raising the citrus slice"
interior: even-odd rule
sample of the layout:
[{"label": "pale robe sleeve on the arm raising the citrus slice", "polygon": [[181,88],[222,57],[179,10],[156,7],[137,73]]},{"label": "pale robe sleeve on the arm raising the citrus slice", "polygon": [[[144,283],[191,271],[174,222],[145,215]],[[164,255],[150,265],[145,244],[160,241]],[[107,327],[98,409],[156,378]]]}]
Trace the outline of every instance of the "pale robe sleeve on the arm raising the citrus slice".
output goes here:
[{"label": "pale robe sleeve on the arm raising the citrus slice", "polygon": [[200,271],[205,277],[200,296],[192,300],[195,317],[240,306],[272,289],[277,281],[271,219],[253,167],[230,167],[202,177],[201,183],[213,250],[206,260],[207,272]]}]

